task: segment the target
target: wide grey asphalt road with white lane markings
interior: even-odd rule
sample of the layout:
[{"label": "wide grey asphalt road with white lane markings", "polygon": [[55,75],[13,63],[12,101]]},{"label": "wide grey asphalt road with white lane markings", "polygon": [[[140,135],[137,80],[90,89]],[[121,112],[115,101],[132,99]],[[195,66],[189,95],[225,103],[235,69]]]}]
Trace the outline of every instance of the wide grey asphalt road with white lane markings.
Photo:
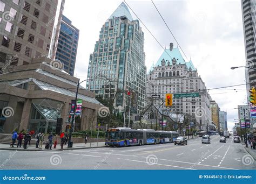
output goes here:
[{"label": "wide grey asphalt road with white lane markings", "polygon": [[233,143],[232,137],[219,143],[219,138],[211,136],[211,144],[194,138],[184,146],[166,143],[70,151],[1,150],[0,169],[256,169],[244,145]]}]

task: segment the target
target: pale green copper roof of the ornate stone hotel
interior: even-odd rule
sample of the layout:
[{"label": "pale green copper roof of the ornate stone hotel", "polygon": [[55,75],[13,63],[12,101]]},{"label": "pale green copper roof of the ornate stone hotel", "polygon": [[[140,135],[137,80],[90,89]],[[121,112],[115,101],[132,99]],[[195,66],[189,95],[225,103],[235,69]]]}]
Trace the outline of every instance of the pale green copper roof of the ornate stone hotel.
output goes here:
[{"label": "pale green copper roof of the ornate stone hotel", "polygon": [[[170,56],[171,58],[170,58]],[[167,65],[167,62],[170,61],[170,65],[172,65],[172,59],[175,58],[176,61],[177,61],[177,65],[180,64],[186,64],[187,68],[191,68],[192,70],[197,70],[192,61],[188,61],[186,62],[184,59],[183,59],[183,56],[181,55],[180,51],[179,51],[179,48],[173,48],[172,51],[170,51],[169,48],[166,48],[165,51],[161,54],[160,58],[158,59],[157,63],[156,63],[156,67],[157,66],[161,66],[161,61],[164,59],[165,60],[165,65]],[[153,66],[151,66],[151,68],[149,69],[148,71],[148,74],[150,73],[150,71],[153,70]]]}]

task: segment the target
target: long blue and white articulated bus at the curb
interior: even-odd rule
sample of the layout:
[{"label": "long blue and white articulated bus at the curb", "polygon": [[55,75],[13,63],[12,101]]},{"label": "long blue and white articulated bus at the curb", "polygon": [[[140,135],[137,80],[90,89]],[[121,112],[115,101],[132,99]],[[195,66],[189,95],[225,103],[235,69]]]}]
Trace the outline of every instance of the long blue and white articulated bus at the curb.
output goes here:
[{"label": "long blue and white articulated bus at the curb", "polygon": [[108,129],[106,132],[105,145],[109,146],[128,146],[128,145],[145,145],[168,143],[175,141],[178,137],[177,132],[155,131],[152,129],[116,128]]}]

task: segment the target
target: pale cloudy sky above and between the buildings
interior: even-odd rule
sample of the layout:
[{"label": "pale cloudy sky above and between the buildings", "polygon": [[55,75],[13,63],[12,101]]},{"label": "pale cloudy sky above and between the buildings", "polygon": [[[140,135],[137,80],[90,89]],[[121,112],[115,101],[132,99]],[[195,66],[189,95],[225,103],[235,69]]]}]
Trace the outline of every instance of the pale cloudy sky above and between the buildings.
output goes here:
[{"label": "pale cloudy sky above and between the buildings", "polygon": [[[187,59],[191,58],[207,89],[245,83],[245,69],[231,70],[232,66],[245,66],[245,46],[242,27],[241,1],[227,0],[176,0],[153,1],[167,25],[178,40]],[[75,76],[86,79],[89,56],[93,52],[99,31],[122,1],[66,0],[64,15],[80,30]],[[158,39],[169,48],[177,43],[165,26],[151,1],[126,0],[136,15]],[[136,16],[131,12],[134,19]],[[149,69],[156,63],[163,48],[142,26],[144,52]],[[186,58],[184,56],[184,58]],[[85,86],[85,83],[82,84]],[[228,129],[238,119],[237,105],[246,103],[246,87],[238,86],[209,90],[221,110],[227,111]]]}]

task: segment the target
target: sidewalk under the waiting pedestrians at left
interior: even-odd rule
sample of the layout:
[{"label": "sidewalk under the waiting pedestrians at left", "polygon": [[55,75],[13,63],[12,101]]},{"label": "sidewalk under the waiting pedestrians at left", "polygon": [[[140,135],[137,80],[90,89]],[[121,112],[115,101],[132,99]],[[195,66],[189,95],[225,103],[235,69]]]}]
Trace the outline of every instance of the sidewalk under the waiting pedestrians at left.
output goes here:
[{"label": "sidewalk under the waiting pedestrians at left", "polygon": [[[28,146],[28,149],[24,150],[23,145],[22,147],[17,147],[17,144],[14,145],[14,147],[10,147],[9,144],[2,144],[0,143],[0,150],[18,150],[18,151],[50,151],[48,149],[45,149],[45,144],[42,146],[42,150],[39,150],[36,148],[36,146]],[[85,148],[96,148],[96,147],[106,147],[105,142],[98,142],[97,143],[74,143],[72,148],[68,148],[68,144],[63,146],[63,150],[80,150]],[[60,149],[60,145],[58,144],[56,148],[53,148],[52,144],[52,150],[51,151],[62,151]]]}]

